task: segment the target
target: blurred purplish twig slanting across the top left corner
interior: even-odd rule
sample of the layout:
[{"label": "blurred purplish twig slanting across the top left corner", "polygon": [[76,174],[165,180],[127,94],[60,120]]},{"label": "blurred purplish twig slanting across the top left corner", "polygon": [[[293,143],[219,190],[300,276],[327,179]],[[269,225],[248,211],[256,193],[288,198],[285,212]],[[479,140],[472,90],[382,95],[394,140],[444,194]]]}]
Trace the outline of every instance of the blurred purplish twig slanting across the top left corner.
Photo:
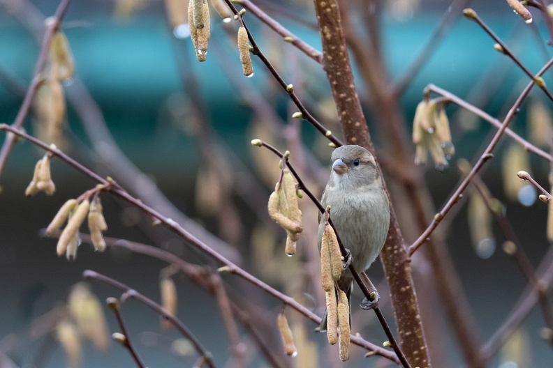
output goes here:
[{"label": "blurred purplish twig slanting across the top left corner", "polygon": [[[40,48],[40,54],[38,54],[38,60],[36,61],[31,85],[27,89],[21,107],[17,112],[17,116],[15,116],[15,120],[13,121],[13,127],[15,129],[21,129],[23,127],[25,118],[27,117],[27,114],[29,114],[29,109],[31,109],[31,103],[33,102],[34,95],[36,94],[36,91],[38,91],[40,84],[43,82],[42,74],[46,68],[48,53],[50,52],[50,43],[59,29],[59,24],[61,23],[70,2],[71,0],[61,0],[56,13],[53,17],[49,18],[46,24],[46,31],[44,32],[42,46]],[[2,145],[0,150],[0,175],[6,166],[6,161],[8,160],[8,156],[10,155],[14,143],[15,136],[8,135]]]}]

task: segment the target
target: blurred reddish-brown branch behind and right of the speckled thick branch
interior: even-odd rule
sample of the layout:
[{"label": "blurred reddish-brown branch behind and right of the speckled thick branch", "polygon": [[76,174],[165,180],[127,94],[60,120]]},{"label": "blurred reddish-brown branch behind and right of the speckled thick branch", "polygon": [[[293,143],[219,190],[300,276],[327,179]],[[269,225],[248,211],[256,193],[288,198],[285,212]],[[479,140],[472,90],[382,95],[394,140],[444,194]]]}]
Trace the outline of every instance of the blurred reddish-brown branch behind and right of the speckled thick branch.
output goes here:
[{"label": "blurred reddish-brown branch behind and right of the speckled thick branch", "polygon": [[[343,3],[346,3],[342,0]],[[351,47],[353,57],[360,66],[360,74],[364,84],[371,92],[369,102],[374,110],[376,120],[380,123],[376,127],[381,132],[381,137],[385,141],[385,146],[390,147],[390,160],[401,171],[413,172],[413,157],[408,147],[411,147],[406,123],[399,107],[399,95],[391,93],[390,82],[386,77],[385,64],[378,59],[377,53],[366,47],[360,38],[357,37],[355,30],[348,22],[348,13],[346,8],[341,9],[341,15],[344,19],[343,29],[346,31],[346,39]],[[367,61],[370,61],[368,63]],[[404,227],[425,231],[427,228],[427,219],[432,218],[436,210],[432,209],[429,199],[430,194],[420,176],[412,176],[411,180],[401,181],[397,185],[400,195],[406,196],[408,204],[416,215],[406,218]],[[434,234],[428,243],[425,256],[432,267],[432,274],[436,282],[436,292],[440,296],[445,313],[451,321],[452,330],[457,338],[464,359],[470,367],[485,367],[485,361],[479,353],[479,342],[476,336],[475,322],[469,309],[464,291],[461,287],[459,277],[452,267],[452,261],[439,234]],[[390,289],[394,293],[394,289]]]}]

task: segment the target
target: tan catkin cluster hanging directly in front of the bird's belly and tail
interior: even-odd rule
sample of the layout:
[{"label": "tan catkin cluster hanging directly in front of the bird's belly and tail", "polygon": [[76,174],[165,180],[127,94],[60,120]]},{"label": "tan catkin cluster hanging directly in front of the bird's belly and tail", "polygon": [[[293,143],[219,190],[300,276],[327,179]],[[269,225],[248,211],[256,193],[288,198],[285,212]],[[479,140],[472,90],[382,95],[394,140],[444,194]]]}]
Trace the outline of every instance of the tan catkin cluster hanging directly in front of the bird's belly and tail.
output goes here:
[{"label": "tan catkin cluster hanging directly in front of the bird's belly and tail", "polygon": [[326,224],[320,243],[320,274],[327,307],[327,338],[331,345],[339,342],[340,360],[344,362],[350,355],[349,303],[346,293],[334,282],[344,272],[342,260],[336,233]]}]

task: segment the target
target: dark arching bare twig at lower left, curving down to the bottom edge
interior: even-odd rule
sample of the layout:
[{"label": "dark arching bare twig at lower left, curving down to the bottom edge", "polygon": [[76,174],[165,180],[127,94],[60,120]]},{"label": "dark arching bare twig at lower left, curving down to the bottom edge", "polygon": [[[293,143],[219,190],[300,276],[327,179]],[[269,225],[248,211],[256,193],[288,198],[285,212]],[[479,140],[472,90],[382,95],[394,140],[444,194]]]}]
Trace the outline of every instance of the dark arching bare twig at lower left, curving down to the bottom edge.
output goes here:
[{"label": "dark arching bare twig at lower left, curving down to the bottom edge", "polygon": [[[142,304],[146,305],[150,309],[154,310],[154,312],[160,314],[163,316],[163,318],[168,319],[173,325],[175,325],[175,328],[179,330],[179,332],[186,337],[186,339],[189,339],[196,351],[200,356],[205,357],[211,357],[211,353],[209,351],[206,351],[205,348],[200,344],[198,339],[193,335],[193,333],[175,316],[173,316],[171,313],[169,313],[165,308],[161,307],[161,305],[158,305],[154,300],[147,298],[146,296],[143,296],[138,291],[135,291],[134,289],[131,289],[130,287],[126,286],[125,284],[112,279],[111,277],[102,275],[101,273],[97,273],[93,270],[84,270],[82,273],[82,277],[85,279],[96,279],[98,281],[101,281],[105,284],[108,284],[110,286],[115,287],[115,289],[119,289],[120,291],[123,291],[123,296],[121,297],[121,300],[126,300],[127,298],[133,298],[141,302]],[[207,365],[209,367],[214,368],[214,362],[211,358],[207,360]]]}]

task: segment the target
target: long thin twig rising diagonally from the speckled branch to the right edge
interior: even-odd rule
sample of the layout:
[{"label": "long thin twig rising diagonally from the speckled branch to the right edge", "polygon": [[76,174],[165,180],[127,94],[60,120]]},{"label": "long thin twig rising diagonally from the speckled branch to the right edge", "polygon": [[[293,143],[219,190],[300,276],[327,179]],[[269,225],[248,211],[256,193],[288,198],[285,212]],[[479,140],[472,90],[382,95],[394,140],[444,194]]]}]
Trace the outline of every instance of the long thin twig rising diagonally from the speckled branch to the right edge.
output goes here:
[{"label": "long thin twig rising diagonally from the speckled branch to the right edge", "polygon": [[[552,64],[553,64],[553,59],[550,59],[550,61],[548,61],[545,64],[545,66],[538,72],[536,77],[539,77],[540,75],[542,75],[545,72],[545,70],[550,68],[550,66]],[[507,116],[505,117],[505,119],[503,119],[503,123],[501,123],[501,128],[499,128],[499,130],[496,132],[496,135],[494,135],[494,138],[492,139],[492,141],[489,142],[489,145],[487,146],[486,150],[484,151],[484,153],[482,153],[482,155],[478,159],[478,162],[476,162],[476,164],[472,168],[469,175],[467,175],[466,178],[464,179],[464,181],[462,181],[461,185],[459,185],[459,187],[457,187],[457,190],[455,190],[455,193],[453,193],[452,197],[450,197],[450,199],[445,204],[445,206],[443,206],[443,208],[440,210],[440,212],[436,213],[436,215],[434,216],[434,219],[430,223],[429,227],[427,227],[427,229],[419,236],[419,238],[417,240],[415,240],[415,243],[413,243],[409,247],[408,252],[409,252],[410,256],[416,250],[418,250],[418,248],[423,243],[425,243],[426,239],[430,236],[432,231],[434,231],[434,229],[436,229],[436,227],[438,227],[438,224],[441,222],[443,217],[445,215],[447,215],[449,210],[452,208],[452,206],[455,206],[457,201],[459,201],[460,195],[463,193],[463,191],[469,185],[469,183],[471,182],[473,176],[475,176],[475,174],[478,173],[478,170],[480,170],[480,168],[485,164],[485,162],[487,162],[487,160],[489,160],[490,158],[493,157],[492,151],[494,151],[494,148],[497,146],[497,144],[499,142],[499,139],[501,138],[501,136],[505,132],[508,123],[510,123],[513,116],[515,116],[515,113],[517,112],[517,109],[522,104],[522,101],[524,101],[524,99],[526,98],[528,93],[530,93],[530,90],[532,89],[533,86],[534,86],[534,82],[530,82],[526,86],[524,91],[522,91],[522,93],[519,95],[519,98],[517,98],[517,100],[515,101],[515,104],[513,105],[513,107],[511,107],[511,109],[509,110],[509,112],[508,112]]]}]

